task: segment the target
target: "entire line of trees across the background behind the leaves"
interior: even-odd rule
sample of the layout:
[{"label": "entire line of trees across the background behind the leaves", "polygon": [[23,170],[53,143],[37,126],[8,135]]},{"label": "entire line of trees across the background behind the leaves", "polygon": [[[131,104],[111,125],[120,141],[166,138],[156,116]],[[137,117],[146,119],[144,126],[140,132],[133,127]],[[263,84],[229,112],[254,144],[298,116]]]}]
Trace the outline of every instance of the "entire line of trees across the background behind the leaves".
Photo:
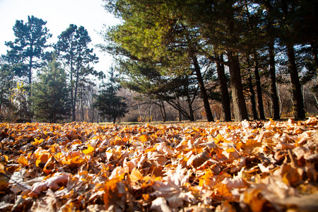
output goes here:
[{"label": "entire line of trees across the background behind the leaves", "polygon": [[122,19],[98,46],[117,59],[108,79],[83,26],[48,45],[44,20],[17,20],[1,56],[1,122],[318,114],[318,1],[103,1]]}]

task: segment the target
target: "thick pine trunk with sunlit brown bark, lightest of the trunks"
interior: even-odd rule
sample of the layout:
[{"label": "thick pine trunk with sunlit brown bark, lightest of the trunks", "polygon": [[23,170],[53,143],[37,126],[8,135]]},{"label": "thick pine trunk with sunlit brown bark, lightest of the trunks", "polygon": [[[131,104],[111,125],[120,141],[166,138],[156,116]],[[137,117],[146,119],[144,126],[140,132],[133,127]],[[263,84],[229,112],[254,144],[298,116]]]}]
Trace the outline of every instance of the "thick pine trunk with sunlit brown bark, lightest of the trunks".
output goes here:
[{"label": "thick pine trunk with sunlit brown bark, lightest of the trunks", "polygon": [[235,121],[240,122],[244,119],[248,120],[249,117],[242,89],[240,63],[237,54],[234,55],[229,51],[228,60],[230,62],[230,83]]}]

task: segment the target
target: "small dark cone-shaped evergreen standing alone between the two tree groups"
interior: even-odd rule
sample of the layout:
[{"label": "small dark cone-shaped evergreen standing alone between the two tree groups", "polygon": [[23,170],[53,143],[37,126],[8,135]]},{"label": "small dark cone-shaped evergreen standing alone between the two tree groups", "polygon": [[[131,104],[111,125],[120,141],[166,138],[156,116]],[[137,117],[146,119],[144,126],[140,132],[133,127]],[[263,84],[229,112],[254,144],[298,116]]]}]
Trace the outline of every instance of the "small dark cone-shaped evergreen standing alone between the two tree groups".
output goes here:
[{"label": "small dark cone-shaped evergreen standing alone between the two tree groups", "polygon": [[112,120],[113,123],[117,119],[124,117],[127,110],[125,98],[118,96],[117,92],[121,88],[116,82],[118,76],[114,73],[114,68],[111,68],[109,73],[108,82],[103,85],[104,88],[100,90],[100,94],[96,96],[94,107],[97,107],[100,115]]}]

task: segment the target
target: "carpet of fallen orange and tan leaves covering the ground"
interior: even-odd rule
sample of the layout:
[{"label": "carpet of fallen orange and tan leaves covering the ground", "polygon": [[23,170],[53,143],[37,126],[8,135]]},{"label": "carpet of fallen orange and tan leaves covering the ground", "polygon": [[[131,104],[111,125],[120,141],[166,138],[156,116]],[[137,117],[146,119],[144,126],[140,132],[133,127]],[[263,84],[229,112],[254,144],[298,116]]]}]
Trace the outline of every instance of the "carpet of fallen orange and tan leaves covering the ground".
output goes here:
[{"label": "carpet of fallen orange and tan leaves covering the ground", "polygon": [[317,211],[317,128],[0,124],[0,210]]}]

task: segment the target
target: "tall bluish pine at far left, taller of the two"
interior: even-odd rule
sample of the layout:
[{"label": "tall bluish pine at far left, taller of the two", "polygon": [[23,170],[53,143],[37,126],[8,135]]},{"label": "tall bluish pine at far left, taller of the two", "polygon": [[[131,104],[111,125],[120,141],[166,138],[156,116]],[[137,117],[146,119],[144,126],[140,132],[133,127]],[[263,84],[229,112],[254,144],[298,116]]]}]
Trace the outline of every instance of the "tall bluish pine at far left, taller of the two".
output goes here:
[{"label": "tall bluish pine at far left, taller of the two", "polygon": [[[46,42],[52,37],[45,27],[46,23],[46,21],[34,16],[28,16],[28,23],[16,20],[16,24],[13,26],[16,40],[5,42],[5,45],[11,48],[7,52],[7,57],[15,57],[16,61],[21,61],[28,66],[28,69],[22,74],[28,78],[29,85],[33,82],[33,69],[43,66],[44,50],[49,47]],[[30,95],[29,92],[29,97]]]}]

